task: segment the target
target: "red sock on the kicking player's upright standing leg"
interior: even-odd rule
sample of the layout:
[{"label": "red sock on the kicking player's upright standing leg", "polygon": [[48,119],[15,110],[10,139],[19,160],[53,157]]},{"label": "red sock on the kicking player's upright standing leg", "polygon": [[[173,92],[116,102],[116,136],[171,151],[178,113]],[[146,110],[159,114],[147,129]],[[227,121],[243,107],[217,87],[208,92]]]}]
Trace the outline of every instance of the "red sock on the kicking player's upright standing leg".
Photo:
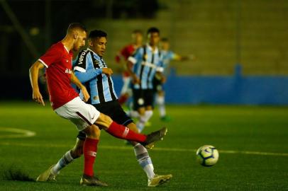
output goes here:
[{"label": "red sock on the kicking player's upright standing leg", "polygon": [[84,154],[84,175],[92,176],[94,175],[94,161],[96,158],[96,151],[98,139],[90,139],[86,138],[83,146],[83,154]]}]

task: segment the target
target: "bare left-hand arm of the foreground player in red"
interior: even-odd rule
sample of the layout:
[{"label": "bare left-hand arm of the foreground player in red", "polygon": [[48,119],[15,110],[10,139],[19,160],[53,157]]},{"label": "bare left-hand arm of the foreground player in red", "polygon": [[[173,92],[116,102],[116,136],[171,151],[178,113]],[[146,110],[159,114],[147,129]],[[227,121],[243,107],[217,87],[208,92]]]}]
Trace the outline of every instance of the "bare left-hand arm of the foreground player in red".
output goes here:
[{"label": "bare left-hand arm of the foreground player in red", "polygon": [[33,89],[33,100],[45,106],[43,97],[39,91],[39,86],[38,86],[39,70],[43,68],[44,68],[44,65],[40,61],[36,61],[29,69],[29,77],[30,77],[31,86]]}]

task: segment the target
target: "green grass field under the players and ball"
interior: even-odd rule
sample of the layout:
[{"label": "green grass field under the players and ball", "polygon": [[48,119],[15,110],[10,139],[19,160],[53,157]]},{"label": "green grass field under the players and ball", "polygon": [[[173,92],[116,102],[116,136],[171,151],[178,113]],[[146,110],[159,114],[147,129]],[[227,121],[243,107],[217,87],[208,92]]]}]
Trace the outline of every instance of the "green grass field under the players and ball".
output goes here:
[{"label": "green grass field under the players and ball", "polygon": [[[82,187],[83,158],[63,169],[56,183],[0,179],[0,190],[288,190],[288,108],[170,105],[168,134],[150,151],[156,173],[172,173],[170,183],[147,187],[131,146],[102,132],[95,171],[109,187]],[[13,137],[9,128],[35,132]],[[52,112],[49,104],[0,103],[0,171],[21,168],[32,178],[74,145],[77,129]],[[216,166],[196,163],[195,151],[211,144],[219,150]],[[1,175],[0,175],[1,177]]]}]

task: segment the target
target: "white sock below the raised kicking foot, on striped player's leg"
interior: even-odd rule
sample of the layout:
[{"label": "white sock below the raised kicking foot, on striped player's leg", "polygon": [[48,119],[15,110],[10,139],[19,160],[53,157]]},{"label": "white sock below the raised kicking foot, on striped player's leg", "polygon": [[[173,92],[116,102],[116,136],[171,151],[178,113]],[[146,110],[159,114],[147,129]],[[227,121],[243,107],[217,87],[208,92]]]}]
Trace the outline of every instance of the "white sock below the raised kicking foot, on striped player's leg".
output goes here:
[{"label": "white sock below the raised kicking foot, on striped player's leg", "polygon": [[154,167],[147,149],[142,144],[136,144],[134,146],[134,152],[138,163],[145,171],[147,177],[149,179],[153,178],[155,175]]}]

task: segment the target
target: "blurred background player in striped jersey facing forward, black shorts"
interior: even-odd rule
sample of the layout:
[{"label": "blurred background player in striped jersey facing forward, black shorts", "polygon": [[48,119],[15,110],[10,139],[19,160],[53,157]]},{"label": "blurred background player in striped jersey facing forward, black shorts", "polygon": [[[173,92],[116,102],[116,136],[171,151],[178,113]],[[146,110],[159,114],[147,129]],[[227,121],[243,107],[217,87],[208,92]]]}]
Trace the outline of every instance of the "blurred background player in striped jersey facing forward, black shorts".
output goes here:
[{"label": "blurred background player in striped jersey facing forward, black shorts", "polygon": [[148,29],[148,43],[138,48],[133,56],[128,58],[127,65],[133,64],[133,70],[128,67],[132,78],[133,109],[138,110],[139,121],[137,127],[142,132],[145,123],[153,115],[153,79],[155,74],[165,81],[162,75],[162,55],[157,45],[160,40],[160,30]]}]

